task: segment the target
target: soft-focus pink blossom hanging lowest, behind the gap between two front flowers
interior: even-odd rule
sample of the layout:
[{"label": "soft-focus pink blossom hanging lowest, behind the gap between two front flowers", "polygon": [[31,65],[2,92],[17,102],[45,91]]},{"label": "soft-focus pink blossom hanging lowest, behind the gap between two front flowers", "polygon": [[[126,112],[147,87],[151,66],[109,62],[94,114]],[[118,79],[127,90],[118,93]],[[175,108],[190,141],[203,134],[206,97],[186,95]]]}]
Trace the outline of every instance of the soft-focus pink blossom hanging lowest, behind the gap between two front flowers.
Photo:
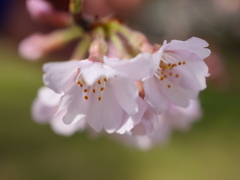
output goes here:
[{"label": "soft-focus pink blossom hanging lowest, behind the gap between two front flowers", "polygon": [[138,113],[129,117],[128,125],[111,137],[127,146],[142,150],[167,142],[171,129],[164,119],[156,115],[142,98],[138,97],[137,103]]}]

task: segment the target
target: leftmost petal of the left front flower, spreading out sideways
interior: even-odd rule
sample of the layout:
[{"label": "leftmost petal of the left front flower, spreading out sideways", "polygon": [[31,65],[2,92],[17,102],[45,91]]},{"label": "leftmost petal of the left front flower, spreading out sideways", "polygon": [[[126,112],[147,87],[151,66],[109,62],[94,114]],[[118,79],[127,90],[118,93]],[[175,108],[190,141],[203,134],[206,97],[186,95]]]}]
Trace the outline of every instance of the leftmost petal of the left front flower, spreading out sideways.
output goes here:
[{"label": "leftmost petal of the left front flower, spreading out sideways", "polygon": [[62,93],[65,83],[78,68],[79,61],[44,64],[43,71],[46,72],[43,76],[44,84],[56,93]]}]

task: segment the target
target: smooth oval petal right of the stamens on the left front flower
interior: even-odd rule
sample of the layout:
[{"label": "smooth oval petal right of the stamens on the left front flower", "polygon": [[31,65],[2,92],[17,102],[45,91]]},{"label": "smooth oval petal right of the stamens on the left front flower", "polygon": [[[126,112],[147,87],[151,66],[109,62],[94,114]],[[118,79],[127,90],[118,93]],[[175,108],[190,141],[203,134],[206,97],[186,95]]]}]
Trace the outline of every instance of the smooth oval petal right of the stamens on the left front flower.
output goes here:
[{"label": "smooth oval petal right of the stamens on the left front flower", "polygon": [[138,90],[135,84],[128,78],[116,77],[111,78],[107,83],[116,97],[120,106],[129,114],[133,115],[138,112],[138,105],[136,99],[138,97]]}]

